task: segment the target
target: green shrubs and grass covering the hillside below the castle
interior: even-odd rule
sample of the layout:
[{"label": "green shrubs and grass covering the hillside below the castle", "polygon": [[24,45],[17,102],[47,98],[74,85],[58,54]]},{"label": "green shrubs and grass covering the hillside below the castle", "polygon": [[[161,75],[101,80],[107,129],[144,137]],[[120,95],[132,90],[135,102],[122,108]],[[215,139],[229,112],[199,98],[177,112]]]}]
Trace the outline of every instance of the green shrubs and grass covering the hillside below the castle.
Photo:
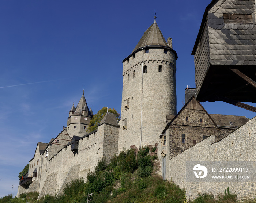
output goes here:
[{"label": "green shrubs and grass covering the hillside below the castle", "polygon": [[[36,201],[38,193],[22,194],[20,198],[11,195],[0,198],[0,203],[186,203],[185,190],[176,184],[163,181],[156,175],[159,161],[155,154],[156,148],[130,149],[122,151],[111,159],[109,165],[103,158],[98,161],[95,172],[87,175],[87,182],[76,179],[67,184],[61,194],[46,195]],[[218,200],[211,194],[200,194],[194,203],[235,203],[236,195],[229,194],[227,188]],[[245,203],[256,203],[246,200]]]}]

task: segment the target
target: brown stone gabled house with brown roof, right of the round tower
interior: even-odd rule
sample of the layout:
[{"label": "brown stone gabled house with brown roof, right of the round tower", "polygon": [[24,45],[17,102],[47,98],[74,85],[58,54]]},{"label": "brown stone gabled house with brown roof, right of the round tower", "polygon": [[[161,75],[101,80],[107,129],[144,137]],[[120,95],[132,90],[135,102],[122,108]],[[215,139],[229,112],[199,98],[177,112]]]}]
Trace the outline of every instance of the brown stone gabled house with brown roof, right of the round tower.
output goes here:
[{"label": "brown stone gabled house with brown roof, right of the round tower", "polygon": [[168,116],[167,119],[158,144],[164,179],[170,159],[211,135],[217,142],[249,121],[245,116],[208,114],[193,95],[176,116]]}]

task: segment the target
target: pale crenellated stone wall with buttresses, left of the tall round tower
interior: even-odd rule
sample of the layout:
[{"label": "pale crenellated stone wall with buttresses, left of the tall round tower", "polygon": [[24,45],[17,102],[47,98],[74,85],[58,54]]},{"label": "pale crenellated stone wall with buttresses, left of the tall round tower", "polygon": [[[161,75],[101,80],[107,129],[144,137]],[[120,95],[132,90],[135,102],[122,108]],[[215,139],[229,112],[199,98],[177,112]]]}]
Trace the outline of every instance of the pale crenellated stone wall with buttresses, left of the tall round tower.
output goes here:
[{"label": "pale crenellated stone wall with buttresses, left of the tall round tower", "polygon": [[113,154],[117,153],[118,130],[119,127],[104,123],[98,127],[98,131],[79,139],[78,151],[71,151],[70,143],[49,160],[44,154],[41,176],[23,192],[39,191],[38,199],[41,199],[46,194],[55,195],[63,191],[71,180],[86,180],[99,158],[104,156],[109,162]]}]

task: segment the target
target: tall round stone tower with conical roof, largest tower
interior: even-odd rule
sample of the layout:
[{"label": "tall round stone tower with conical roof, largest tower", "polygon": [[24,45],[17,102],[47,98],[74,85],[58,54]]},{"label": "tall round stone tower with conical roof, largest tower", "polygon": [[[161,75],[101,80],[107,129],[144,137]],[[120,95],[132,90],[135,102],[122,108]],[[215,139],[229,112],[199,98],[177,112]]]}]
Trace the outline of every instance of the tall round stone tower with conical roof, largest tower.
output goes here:
[{"label": "tall round stone tower with conical roof, largest tower", "polygon": [[119,151],[159,142],[166,116],[176,115],[176,59],[154,21],[123,60]]}]

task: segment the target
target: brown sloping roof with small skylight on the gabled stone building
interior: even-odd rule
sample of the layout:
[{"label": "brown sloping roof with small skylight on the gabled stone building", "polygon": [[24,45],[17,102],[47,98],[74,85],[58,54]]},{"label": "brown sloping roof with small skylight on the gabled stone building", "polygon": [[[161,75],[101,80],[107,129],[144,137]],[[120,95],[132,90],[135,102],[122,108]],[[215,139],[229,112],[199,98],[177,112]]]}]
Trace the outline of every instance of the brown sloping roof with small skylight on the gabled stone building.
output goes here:
[{"label": "brown sloping roof with small skylight on the gabled stone building", "polygon": [[[245,116],[233,116],[233,115],[222,115],[222,114],[209,114],[218,127],[229,127],[238,128],[244,125],[250,119]],[[233,123],[233,125],[230,124]]]}]

